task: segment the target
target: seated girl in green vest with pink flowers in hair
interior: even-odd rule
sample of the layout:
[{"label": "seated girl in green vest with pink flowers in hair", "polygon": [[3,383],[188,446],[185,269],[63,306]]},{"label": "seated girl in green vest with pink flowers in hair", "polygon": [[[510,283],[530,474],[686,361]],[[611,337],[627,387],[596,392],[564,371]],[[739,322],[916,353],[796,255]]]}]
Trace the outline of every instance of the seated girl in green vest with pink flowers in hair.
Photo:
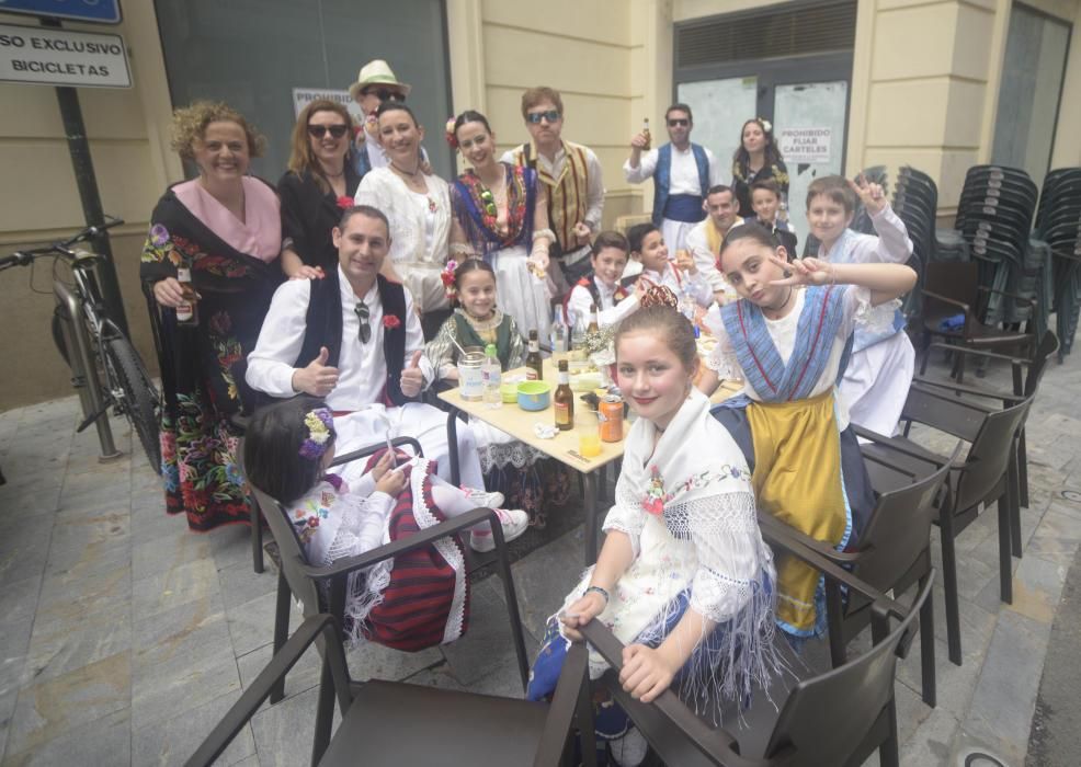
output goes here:
[{"label": "seated girl in green vest with pink flowers in hair", "polygon": [[[525,356],[522,334],[514,318],[497,305],[491,265],[480,259],[466,259],[460,264],[447,262],[443,282],[452,306],[457,306],[424,347],[437,379],[457,382],[459,346],[482,350],[494,344],[504,371],[521,367]],[[567,497],[569,483],[555,481],[566,479],[565,472],[557,470],[559,465],[553,461],[551,470],[543,477],[537,466],[543,453],[482,421],[474,420],[469,425],[477,439],[485,486],[501,491],[513,505],[528,512],[535,526],[543,527],[545,508],[561,504]]]}]

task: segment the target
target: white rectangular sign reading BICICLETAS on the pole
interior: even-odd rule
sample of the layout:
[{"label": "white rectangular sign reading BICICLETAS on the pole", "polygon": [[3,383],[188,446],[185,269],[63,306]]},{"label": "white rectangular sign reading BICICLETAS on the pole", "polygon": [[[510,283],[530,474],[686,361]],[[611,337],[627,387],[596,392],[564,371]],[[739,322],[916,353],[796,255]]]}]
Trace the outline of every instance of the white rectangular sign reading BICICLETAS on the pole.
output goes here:
[{"label": "white rectangular sign reading BICICLETAS on the pole", "polygon": [[130,88],[127,46],[120,35],[0,24],[0,81]]}]

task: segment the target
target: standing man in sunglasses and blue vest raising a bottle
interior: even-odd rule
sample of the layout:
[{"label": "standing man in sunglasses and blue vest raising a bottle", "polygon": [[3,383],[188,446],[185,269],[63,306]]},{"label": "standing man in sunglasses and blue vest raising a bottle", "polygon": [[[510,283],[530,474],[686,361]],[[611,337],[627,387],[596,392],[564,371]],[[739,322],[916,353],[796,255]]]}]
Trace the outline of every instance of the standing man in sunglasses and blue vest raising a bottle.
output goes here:
[{"label": "standing man in sunglasses and blue vest raising a bottle", "polygon": [[691,142],[694,121],[686,104],[664,113],[669,144],[649,149],[645,131],[630,139],[630,157],[623,172],[631,184],[653,179],[653,226],[661,230],[670,253],[685,248],[687,232],[705,218],[703,202],[710,186],[720,183],[720,165],[713,152]]}]

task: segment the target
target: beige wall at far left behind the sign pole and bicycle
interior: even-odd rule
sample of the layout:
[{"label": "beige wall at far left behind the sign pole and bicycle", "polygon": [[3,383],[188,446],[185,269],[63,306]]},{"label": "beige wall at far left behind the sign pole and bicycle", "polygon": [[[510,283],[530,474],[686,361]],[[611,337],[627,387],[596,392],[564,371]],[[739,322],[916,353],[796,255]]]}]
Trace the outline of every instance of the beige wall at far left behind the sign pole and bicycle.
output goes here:
[{"label": "beige wall at far left behind the sign pole and bicycle", "polygon": [[[30,16],[0,14],[0,21],[30,25]],[[124,23],[87,32],[124,36],[133,70],[130,89],[80,89],[90,153],[102,206],[127,224],[113,230],[125,310],[136,345],[153,362],[146,304],[138,286],[138,254],[155,201],[169,180],[182,178],[169,149],[171,112],[157,22],[149,0],[126,2]],[[84,226],[56,91],[44,85],[0,84],[0,254],[55,240]],[[49,264],[0,274],[3,307],[0,359],[8,371],[0,386],[0,410],[71,392],[70,374],[53,347]],[[44,293],[36,293],[41,290]]]}]

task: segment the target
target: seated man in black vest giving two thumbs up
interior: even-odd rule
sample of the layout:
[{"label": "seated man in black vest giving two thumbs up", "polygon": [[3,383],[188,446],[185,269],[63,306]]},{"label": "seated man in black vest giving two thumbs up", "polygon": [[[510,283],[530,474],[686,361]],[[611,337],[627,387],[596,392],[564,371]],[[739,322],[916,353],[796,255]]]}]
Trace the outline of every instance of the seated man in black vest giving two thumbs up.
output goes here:
[{"label": "seated man in black vest giving two thumbs up", "polygon": [[[389,231],[376,208],[342,214],[333,231],[338,268],[278,287],[248,357],[247,379],[271,397],[304,391],[326,399],[339,454],[408,435],[448,479],[446,414],[413,401],[435,374],[412,297],[379,274]],[[457,433],[462,483],[483,488],[473,432],[459,424]]]}]

